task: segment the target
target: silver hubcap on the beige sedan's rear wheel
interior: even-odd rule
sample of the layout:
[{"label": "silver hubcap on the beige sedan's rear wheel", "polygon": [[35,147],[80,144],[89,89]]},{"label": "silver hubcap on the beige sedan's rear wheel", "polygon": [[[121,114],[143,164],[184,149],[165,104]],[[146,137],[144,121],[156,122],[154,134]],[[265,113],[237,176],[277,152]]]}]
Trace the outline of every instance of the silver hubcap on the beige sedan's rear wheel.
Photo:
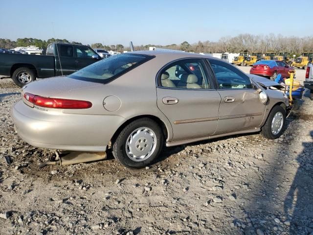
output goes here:
[{"label": "silver hubcap on the beige sedan's rear wheel", "polygon": [[142,162],[148,159],[155,150],[156,134],[150,128],[137,128],[127,138],[126,153],[135,162]]}]

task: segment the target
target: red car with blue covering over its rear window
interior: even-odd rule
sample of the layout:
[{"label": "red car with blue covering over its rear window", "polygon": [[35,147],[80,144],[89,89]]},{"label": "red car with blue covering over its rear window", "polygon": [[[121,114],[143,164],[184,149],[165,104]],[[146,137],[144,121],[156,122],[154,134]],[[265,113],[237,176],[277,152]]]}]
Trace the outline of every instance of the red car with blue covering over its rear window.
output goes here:
[{"label": "red car with blue covering over its rear window", "polygon": [[282,77],[290,77],[288,73],[290,71],[294,71],[294,69],[288,66],[284,61],[259,60],[253,64],[250,73],[274,80],[279,73],[282,74]]}]

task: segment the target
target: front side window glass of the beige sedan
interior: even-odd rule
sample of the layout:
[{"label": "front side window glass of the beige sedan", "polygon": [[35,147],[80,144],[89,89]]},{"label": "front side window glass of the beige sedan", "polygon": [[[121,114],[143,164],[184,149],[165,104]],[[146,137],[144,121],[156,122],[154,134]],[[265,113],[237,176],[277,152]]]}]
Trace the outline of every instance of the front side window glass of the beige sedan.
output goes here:
[{"label": "front side window glass of the beige sedan", "polygon": [[219,60],[209,59],[209,62],[220,89],[252,89],[251,81],[244,72]]}]

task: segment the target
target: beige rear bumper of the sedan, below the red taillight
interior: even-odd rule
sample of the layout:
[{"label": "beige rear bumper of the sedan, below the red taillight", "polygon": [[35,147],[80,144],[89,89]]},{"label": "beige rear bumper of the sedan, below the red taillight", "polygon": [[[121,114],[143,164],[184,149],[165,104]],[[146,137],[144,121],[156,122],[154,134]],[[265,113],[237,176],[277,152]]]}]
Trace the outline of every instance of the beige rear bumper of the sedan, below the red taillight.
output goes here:
[{"label": "beige rear bumper of the sedan, below the red taillight", "polygon": [[[38,115],[40,112],[40,115]],[[11,110],[14,128],[23,141],[42,148],[71,151],[106,151],[118,126],[124,122],[119,116],[110,115],[53,115],[34,110],[16,102]]]}]

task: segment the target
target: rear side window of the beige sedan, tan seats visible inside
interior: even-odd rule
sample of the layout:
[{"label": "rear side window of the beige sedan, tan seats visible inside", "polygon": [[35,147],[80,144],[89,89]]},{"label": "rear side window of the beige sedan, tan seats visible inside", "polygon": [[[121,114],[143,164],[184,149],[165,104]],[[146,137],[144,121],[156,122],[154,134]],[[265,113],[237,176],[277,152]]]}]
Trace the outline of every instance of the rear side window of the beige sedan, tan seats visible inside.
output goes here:
[{"label": "rear side window of the beige sedan, tan seats visible inside", "polygon": [[201,59],[173,62],[159,73],[159,86],[179,89],[211,89]]}]

